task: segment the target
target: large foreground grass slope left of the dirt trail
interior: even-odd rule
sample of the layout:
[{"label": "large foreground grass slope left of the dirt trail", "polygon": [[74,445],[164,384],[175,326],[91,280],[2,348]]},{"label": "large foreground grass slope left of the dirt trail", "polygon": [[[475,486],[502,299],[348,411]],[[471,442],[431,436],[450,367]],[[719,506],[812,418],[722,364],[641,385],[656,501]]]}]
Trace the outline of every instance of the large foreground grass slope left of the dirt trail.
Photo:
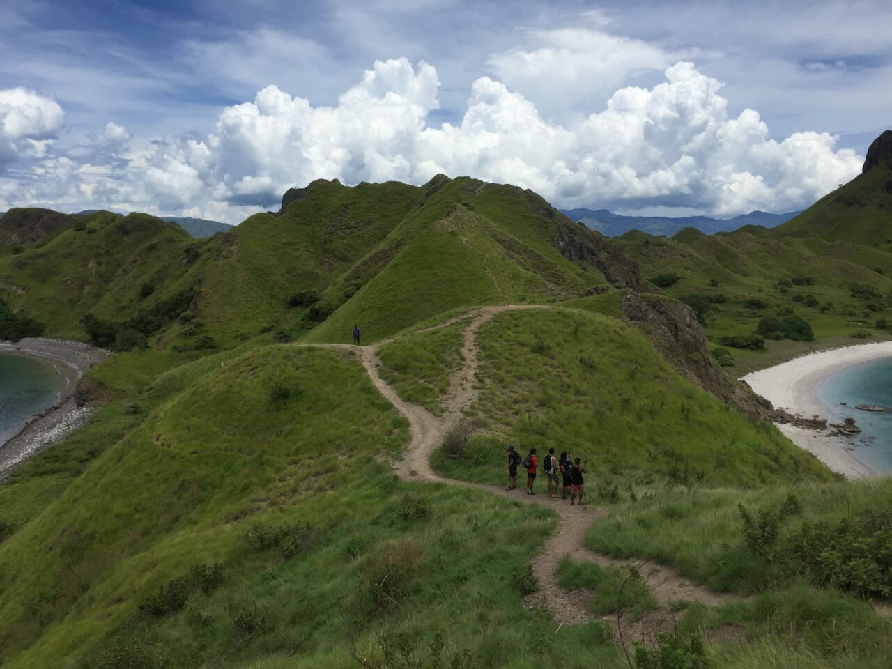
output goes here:
[{"label": "large foreground grass slope left of the dirt trail", "polygon": [[[202,359],[137,400],[82,433],[123,437],[64,490],[47,450],[0,495],[4,665],[348,667],[382,658],[380,634],[418,657],[442,640],[447,665],[533,667],[543,625],[576,644],[563,666],[622,665],[603,626],[577,640],[522,606],[545,509],[396,479],[382,459],[407,425],[349,353]],[[54,499],[16,516],[37,481]]]}]

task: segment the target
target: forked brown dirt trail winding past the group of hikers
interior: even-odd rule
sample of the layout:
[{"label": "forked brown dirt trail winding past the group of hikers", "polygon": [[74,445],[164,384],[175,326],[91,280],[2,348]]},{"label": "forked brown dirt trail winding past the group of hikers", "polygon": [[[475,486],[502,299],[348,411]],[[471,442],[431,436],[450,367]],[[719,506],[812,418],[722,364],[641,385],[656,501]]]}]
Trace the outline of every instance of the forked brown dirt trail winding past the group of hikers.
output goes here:
[{"label": "forked brown dirt trail winding past the group of hikers", "polygon": [[[541,605],[548,607],[555,620],[563,624],[582,624],[591,620],[588,608],[588,600],[591,593],[587,591],[565,591],[558,586],[557,571],[560,561],[569,557],[577,561],[595,562],[600,566],[614,566],[628,564],[629,561],[615,560],[604,555],[592,552],[585,548],[583,539],[585,532],[592,521],[607,516],[604,508],[594,506],[570,506],[566,501],[549,499],[544,494],[527,496],[522,489],[505,491],[504,489],[482,483],[468,483],[445,479],[436,475],[430,466],[430,458],[434,449],[442,444],[443,437],[452,427],[458,425],[463,418],[463,411],[469,409],[477,399],[479,385],[477,384],[477,371],[480,367],[478,360],[478,347],[476,335],[481,326],[491,320],[497,314],[510,310],[542,309],[539,306],[500,306],[484,307],[472,310],[469,314],[450,318],[439,326],[426,328],[425,331],[435,330],[449,326],[463,319],[471,318],[465,331],[465,341],[462,348],[464,364],[458,372],[452,376],[450,389],[443,401],[444,412],[442,417],[435,417],[427,409],[402,401],[393,388],[384,382],[378,373],[380,360],[377,351],[394,338],[386,339],[373,346],[351,346],[349,344],[335,344],[338,348],[348,348],[356,351],[362,360],[363,366],[368,371],[368,376],[376,389],[387,398],[392,405],[409,419],[411,442],[406,450],[404,458],[394,463],[397,475],[404,481],[419,481],[427,483],[447,483],[450,485],[463,485],[491,492],[509,500],[515,500],[528,504],[541,504],[555,511],[558,515],[558,523],[555,532],[551,535],[539,555],[533,558],[533,573],[540,584],[540,589],[526,599],[526,605],[533,607]],[[652,636],[654,632],[667,628],[672,623],[668,614],[672,605],[680,601],[702,601],[707,605],[723,604],[734,599],[707,591],[682,578],[672,568],[658,566],[647,562],[638,562],[636,566],[641,577],[648,583],[654,592],[661,612],[653,614],[655,619],[648,621],[647,630],[641,622],[622,623],[627,639],[641,638],[642,635]],[[612,616],[611,616],[611,619]]]}]

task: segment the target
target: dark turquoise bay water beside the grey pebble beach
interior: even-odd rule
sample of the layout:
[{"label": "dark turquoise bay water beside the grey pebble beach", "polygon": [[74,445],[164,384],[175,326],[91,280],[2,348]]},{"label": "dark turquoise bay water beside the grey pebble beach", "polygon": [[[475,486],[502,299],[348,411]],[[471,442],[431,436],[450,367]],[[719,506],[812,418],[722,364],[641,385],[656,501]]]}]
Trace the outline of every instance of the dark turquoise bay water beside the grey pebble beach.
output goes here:
[{"label": "dark turquoise bay water beside the grey pebble beach", "polygon": [[0,445],[29,417],[52,407],[66,387],[52,362],[0,353]]}]

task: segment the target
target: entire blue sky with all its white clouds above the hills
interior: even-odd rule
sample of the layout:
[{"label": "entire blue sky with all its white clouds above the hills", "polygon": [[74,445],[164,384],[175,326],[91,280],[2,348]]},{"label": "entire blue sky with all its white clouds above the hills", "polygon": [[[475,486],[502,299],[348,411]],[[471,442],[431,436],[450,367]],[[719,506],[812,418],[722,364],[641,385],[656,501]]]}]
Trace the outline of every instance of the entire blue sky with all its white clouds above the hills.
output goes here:
[{"label": "entire blue sky with all its white clouds above the hills", "polygon": [[235,224],[317,178],[804,209],[892,119],[892,4],[0,0],[0,211]]}]

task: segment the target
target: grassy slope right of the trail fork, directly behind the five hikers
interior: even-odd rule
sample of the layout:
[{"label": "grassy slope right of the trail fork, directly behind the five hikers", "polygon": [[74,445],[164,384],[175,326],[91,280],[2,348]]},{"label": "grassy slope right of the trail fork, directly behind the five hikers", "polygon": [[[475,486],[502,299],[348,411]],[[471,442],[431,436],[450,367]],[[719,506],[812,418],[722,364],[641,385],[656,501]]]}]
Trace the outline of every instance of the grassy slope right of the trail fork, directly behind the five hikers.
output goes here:
[{"label": "grassy slope right of the trail fork, directly behind the five hikers", "polygon": [[[772,425],[753,424],[681,378],[637,330],[579,310],[506,312],[478,335],[488,434],[443,471],[503,478],[504,448],[572,450],[591,478],[664,475],[754,486],[827,480],[829,472]],[[468,462],[473,463],[473,467]]]}]

